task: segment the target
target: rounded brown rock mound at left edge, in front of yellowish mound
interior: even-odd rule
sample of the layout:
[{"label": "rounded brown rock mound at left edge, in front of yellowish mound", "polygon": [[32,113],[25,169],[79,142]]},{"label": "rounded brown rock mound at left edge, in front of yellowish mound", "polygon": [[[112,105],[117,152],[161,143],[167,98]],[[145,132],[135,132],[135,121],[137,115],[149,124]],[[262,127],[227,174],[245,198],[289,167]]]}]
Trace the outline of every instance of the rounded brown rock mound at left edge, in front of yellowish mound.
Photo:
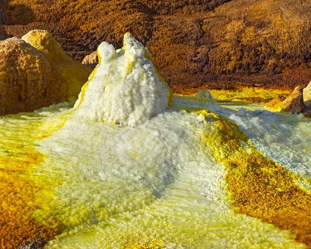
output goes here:
[{"label": "rounded brown rock mound at left edge, in front of yellowish mound", "polygon": [[48,59],[18,38],[0,41],[0,114],[47,105],[52,77]]}]

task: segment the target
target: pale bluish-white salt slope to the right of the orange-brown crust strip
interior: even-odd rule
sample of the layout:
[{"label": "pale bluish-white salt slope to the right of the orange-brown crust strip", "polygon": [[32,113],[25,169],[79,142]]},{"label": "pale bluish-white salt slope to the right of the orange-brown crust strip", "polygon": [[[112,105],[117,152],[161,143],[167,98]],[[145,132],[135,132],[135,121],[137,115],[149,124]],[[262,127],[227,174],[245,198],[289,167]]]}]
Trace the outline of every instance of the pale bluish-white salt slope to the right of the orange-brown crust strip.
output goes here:
[{"label": "pale bluish-white salt slope to the right of the orange-brown crust strip", "polygon": [[[175,98],[183,103],[183,98]],[[256,148],[267,158],[300,177],[311,191],[311,122],[302,115],[272,113],[265,105],[223,102],[220,106],[188,101],[188,105],[208,107],[239,124]],[[224,108],[223,108],[224,107]],[[241,110],[245,109],[245,110]]]}]

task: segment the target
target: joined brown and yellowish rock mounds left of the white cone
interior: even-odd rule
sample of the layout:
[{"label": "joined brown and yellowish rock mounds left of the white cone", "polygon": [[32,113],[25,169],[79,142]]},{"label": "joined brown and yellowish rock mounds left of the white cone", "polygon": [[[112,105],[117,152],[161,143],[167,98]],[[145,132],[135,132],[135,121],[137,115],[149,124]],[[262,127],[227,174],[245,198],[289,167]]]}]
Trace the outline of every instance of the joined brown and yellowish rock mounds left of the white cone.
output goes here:
[{"label": "joined brown and yellowish rock mounds left of the white cone", "polygon": [[0,114],[74,101],[91,69],[67,57],[46,32],[24,39],[31,44],[18,38],[0,42]]}]

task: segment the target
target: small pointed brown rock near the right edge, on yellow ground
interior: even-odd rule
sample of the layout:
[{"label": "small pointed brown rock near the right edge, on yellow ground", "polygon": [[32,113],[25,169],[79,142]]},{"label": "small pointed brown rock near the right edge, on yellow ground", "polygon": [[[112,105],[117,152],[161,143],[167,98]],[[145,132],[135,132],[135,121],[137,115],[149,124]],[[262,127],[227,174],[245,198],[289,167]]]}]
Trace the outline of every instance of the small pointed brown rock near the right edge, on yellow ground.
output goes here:
[{"label": "small pointed brown rock near the right edge, on yellow ground", "polygon": [[281,110],[291,113],[300,113],[304,110],[302,88],[297,86],[294,91],[281,103]]}]

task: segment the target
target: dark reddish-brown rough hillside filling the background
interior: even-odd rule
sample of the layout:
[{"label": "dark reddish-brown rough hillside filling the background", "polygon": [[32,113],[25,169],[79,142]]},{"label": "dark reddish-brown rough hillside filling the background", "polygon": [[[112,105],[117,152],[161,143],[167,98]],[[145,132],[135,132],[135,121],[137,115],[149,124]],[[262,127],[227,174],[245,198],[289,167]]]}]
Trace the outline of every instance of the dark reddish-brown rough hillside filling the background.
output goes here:
[{"label": "dark reddish-brown rough hillside filling the background", "polygon": [[18,37],[48,30],[80,61],[102,41],[120,47],[131,32],[173,91],[187,94],[237,83],[305,87],[310,9],[298,0],[2,0],[0,22]]}]

